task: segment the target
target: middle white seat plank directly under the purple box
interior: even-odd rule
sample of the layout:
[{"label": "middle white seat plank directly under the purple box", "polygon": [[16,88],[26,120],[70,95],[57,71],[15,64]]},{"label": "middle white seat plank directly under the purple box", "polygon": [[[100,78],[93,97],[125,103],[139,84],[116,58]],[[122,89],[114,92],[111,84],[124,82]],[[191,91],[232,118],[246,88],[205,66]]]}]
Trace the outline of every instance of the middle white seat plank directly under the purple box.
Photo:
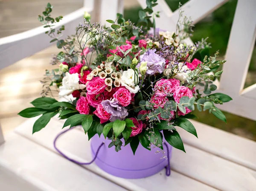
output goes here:
[{"label": "middle white seat plank directly under the purple box", "polygon": [[[30,140],[49,148],[53,152],[56,152],[53,148],[53,140],[57,133],[61,131],[63,121],[53,119],[49,122],[49,125],[45,127],[40,133],[34,133],[32,136],[32,124],[35,119],[29,119],[25,123],[21,124],[15,129],[16,133],[27,137]],[[67,141],[68,140],[68,141]],[[58,141],[58,148],[60,148],[65,154],[73,157],[76,160],[88,162],[91,160],[90,156],[90,142],[87,141],[87,136],[81,130],[70,130],[70,132],[64,134]],[[184,163],[185,164],[185,163]],[[154,176],[144,179],[122,179],[114,177],[101,169],[95,164],[84,165],[84,168],[101,175],[102,177],[115,182],[116,184],[122,185],[123,187],[133,191],[155,191],[161,189],[163,191],[172,190],[215,190],[201,182],[195,181],[189,177],[183,176],[176,171],[171,172],[170,177],[166,177],[165,170],[161,171]],[[157,183],[156,183],[157,182]]]}]

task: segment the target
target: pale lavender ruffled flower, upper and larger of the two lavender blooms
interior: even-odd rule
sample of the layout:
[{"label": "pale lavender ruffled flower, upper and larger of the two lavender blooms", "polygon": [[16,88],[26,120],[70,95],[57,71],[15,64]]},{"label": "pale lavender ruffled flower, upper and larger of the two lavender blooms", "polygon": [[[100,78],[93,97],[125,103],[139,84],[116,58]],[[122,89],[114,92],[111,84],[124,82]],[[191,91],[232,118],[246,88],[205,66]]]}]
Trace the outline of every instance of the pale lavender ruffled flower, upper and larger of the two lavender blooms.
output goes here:
[{"label": "pale lavender ruffled flower, upper and larger of the two lavender blooms", "polygon": [[[160,55],[156,54],[156,49],[149,49],[143,55],[140,56],[140,62],[147,62],[146,74],[154,75],[155,73],[163,73],[165,59]],[[140,63],[137,68],[140,67]]]}]

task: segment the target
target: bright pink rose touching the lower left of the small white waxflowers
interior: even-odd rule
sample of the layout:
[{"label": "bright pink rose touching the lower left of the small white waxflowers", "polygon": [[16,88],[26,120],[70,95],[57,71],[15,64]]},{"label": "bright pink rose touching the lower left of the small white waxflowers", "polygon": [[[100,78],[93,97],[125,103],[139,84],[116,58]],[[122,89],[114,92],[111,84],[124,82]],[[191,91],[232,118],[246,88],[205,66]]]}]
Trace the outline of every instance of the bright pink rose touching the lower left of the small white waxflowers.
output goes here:
[{"label": "bright pink rose touching the lower left of the small white waxflowers", "polygon": [[105,80],[99,77],[93,78],[88,82],[86,90],[90,95],[95,95],[99,93],[103,93],[107,85],[105,84]]}]

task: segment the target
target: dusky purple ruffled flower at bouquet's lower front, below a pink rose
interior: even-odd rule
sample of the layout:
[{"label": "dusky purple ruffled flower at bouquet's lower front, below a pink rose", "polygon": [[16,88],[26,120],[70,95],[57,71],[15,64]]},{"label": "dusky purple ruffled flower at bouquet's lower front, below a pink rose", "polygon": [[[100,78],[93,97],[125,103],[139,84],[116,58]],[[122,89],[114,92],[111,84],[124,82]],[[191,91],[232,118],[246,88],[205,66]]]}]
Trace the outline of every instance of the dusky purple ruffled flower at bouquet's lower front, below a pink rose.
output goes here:
[{"label": "dusky purple ruffled flower at bouquet's lower front, below a pink rose", "polygon": [[102,107],[111,114],[110,121],[113,122],[116,119],[125,119],[128,116],[128,111],[125,107],[118,104],[115,98],[111,100],[105,100],[101,102]]}]

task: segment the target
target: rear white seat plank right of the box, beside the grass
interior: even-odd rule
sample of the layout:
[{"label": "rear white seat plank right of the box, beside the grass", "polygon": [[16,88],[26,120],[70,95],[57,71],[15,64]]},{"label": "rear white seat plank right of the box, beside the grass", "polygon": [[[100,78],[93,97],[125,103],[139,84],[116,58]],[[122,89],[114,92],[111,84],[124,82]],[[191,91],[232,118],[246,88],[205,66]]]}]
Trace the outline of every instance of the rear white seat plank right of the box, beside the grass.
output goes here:
[{"label": "rear white seat plank right of the box, beside the grass", "polygon": [[256,171],[256,142],[191,120],[198,139],[178,128],[183,142]]}]

